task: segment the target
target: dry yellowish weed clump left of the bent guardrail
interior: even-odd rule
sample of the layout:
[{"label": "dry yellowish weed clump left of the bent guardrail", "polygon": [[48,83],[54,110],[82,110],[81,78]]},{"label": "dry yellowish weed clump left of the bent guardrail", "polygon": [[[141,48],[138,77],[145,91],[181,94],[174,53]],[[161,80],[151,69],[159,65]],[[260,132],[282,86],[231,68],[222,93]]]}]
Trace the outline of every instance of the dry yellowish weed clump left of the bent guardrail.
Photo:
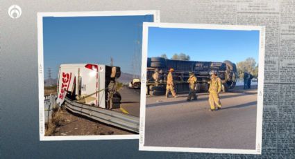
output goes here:
[{"label": "dry yellowish weed clump left of the bent guardrail", "polygon": [[59,106],[56,106],[52,110],[51,119],[49,122],[47,122],[47,125],[45,126],[45,135],[53,135],[56,127],[60,125],[61,122],[61,115],[62,110]]}]

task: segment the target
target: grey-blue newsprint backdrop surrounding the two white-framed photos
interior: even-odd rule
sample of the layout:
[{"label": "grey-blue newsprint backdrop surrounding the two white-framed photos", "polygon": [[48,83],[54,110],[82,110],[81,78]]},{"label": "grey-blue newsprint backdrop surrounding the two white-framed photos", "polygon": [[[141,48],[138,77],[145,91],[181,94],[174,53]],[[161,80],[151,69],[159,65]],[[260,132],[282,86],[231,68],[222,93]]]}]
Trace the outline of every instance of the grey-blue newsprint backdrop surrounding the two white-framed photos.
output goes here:
[{"label": "grey-blue newsprint backdrop surrounding the two white-framed photos", "polygon": [[[12,4],[22,8],[19,19],[8,15]],[[262,155],[138,151],[138,140],[40,142],[37,12],[103,10],[160,10],[161,22],[171,23],[266,26]],[[124,154],[125,158],[294,158],[294,34],[294,0],[38,0],[31,3],[3,0],[0,5],[0,156],[122,158]]]}]

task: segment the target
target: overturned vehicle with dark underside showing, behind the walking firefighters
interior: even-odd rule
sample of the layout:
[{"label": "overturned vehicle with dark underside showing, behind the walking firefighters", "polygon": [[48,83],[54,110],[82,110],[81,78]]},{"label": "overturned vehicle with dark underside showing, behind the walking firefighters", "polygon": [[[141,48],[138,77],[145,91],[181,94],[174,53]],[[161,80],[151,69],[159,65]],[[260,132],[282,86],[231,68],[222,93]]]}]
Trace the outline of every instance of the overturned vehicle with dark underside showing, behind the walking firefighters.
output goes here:
[{"label": "overturned vehicle with dark underside showing, behind the walking firefighters", "polygon": [[[222,91],[228,91],[235,88],[237,79],[237,67],[228,60],[224,62],[196,62],[165,59],[162,57],[151,57],[147,59],[146,73],[146,94],[147,95],[165,95],[166,82],[169,68],[174,68],[174,83],[176,93],[188,93],[189,86],[187,79],[189,72],[196,75],[198,82],[196,84],[197,92],[207,92],[209,88],[210,71],[217,71],[222,82]],[[160,79],[155,86],[153,73],[155,70],[160,73]]]}]

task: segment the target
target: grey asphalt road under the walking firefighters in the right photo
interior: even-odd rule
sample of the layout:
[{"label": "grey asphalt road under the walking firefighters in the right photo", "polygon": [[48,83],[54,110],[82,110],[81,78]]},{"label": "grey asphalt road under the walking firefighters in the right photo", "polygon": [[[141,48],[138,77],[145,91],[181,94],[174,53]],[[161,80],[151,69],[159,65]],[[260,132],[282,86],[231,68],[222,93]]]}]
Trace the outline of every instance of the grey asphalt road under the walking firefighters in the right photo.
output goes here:
[{"label": "grey asphalt road under the walking firefighters in the right photo", "polygon": [[223,108],[209,111],[208,93],[199,100],[146,98],[144,146],[255,149],[257,90],[221,93]]}]

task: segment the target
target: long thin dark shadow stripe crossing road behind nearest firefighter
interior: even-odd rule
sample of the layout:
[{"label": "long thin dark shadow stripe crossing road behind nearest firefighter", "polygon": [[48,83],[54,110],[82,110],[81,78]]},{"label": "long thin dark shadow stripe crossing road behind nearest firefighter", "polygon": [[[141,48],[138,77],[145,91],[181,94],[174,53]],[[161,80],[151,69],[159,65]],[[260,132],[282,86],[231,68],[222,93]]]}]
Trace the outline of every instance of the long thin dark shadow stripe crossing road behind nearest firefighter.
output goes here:
[{"label": "long thin dark shadow stripe crossing road behind nearest firefighter", "polygon": [[[220,100],[225,99],[225,98],[230,98],[230,97],[239,97],[239,96],[244,96],[244,95],[253,95],[253,94],[257,94],[255,93],[237,93],[235,95],[222,95],[220,97]],[[150,98],[152,99],[152,98]],[[205,101],[208,100],[208,96],[207,97],[202,97],[202,98],[198,98],[198,100],[192,100],[191,102],[198,102],[198,101]],[[171,101],[171,102],[158,102],[155,104],[146,104],[146,107],[153,107],[153,106],[166,106],[166,105],[173,105],[173,104],[181,104],[181,103],[187,103],[186,100],[180,100],[180,101]]]}]

